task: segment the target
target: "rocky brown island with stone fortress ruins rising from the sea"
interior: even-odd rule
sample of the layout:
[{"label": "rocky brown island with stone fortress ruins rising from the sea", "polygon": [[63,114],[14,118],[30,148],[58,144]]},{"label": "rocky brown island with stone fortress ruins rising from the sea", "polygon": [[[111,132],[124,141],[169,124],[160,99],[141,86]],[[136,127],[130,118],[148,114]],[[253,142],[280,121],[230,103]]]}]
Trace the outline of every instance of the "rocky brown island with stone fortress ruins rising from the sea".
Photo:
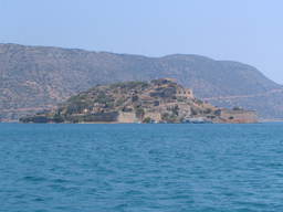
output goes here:
[{"label": "rocky brown island with stone fortress ruins rising from the sea", "polygon": [[97,85],[22,123],[256,123],[253,110],[212,106],[174,78]]}]

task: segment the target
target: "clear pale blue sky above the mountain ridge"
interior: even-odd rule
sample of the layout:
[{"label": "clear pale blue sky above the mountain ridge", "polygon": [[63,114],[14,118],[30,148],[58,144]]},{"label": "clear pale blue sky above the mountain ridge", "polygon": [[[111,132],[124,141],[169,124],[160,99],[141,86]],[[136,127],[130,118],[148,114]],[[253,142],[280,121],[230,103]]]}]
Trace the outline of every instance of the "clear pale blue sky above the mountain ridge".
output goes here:
[{"label": "clear pale blue sky above the mountain ridge", "polygon": [[282,8],[282,0],[0,0],[0,43],[200,54],[283,84]]}]

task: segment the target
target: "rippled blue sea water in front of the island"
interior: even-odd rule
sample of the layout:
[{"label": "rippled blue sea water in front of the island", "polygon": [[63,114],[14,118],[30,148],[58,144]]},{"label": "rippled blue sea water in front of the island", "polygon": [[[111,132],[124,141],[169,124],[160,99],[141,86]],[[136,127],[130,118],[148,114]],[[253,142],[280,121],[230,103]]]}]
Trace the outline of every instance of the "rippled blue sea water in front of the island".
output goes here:
[{"label": "rippled blue sea water in front of the island", "polygon": [[283,124],[0,124],[1,212],[283,211]]}]

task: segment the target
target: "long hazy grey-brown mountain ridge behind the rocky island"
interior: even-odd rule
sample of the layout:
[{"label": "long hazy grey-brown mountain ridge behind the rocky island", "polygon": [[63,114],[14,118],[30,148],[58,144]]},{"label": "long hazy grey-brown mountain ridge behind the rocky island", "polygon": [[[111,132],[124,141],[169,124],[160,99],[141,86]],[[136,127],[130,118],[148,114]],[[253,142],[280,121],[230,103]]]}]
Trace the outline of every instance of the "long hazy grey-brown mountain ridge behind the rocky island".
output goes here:
[{"label": "long hazy grey-brown mountain ridge behind the rocky island", "polygon": [[283,87],[242,63],[199,55],[146,57],[18,44],[0,44],[0,117],[17,119],[52,108],[97,84],[160,77],[177,78],[214,105],[283,118]]}]

